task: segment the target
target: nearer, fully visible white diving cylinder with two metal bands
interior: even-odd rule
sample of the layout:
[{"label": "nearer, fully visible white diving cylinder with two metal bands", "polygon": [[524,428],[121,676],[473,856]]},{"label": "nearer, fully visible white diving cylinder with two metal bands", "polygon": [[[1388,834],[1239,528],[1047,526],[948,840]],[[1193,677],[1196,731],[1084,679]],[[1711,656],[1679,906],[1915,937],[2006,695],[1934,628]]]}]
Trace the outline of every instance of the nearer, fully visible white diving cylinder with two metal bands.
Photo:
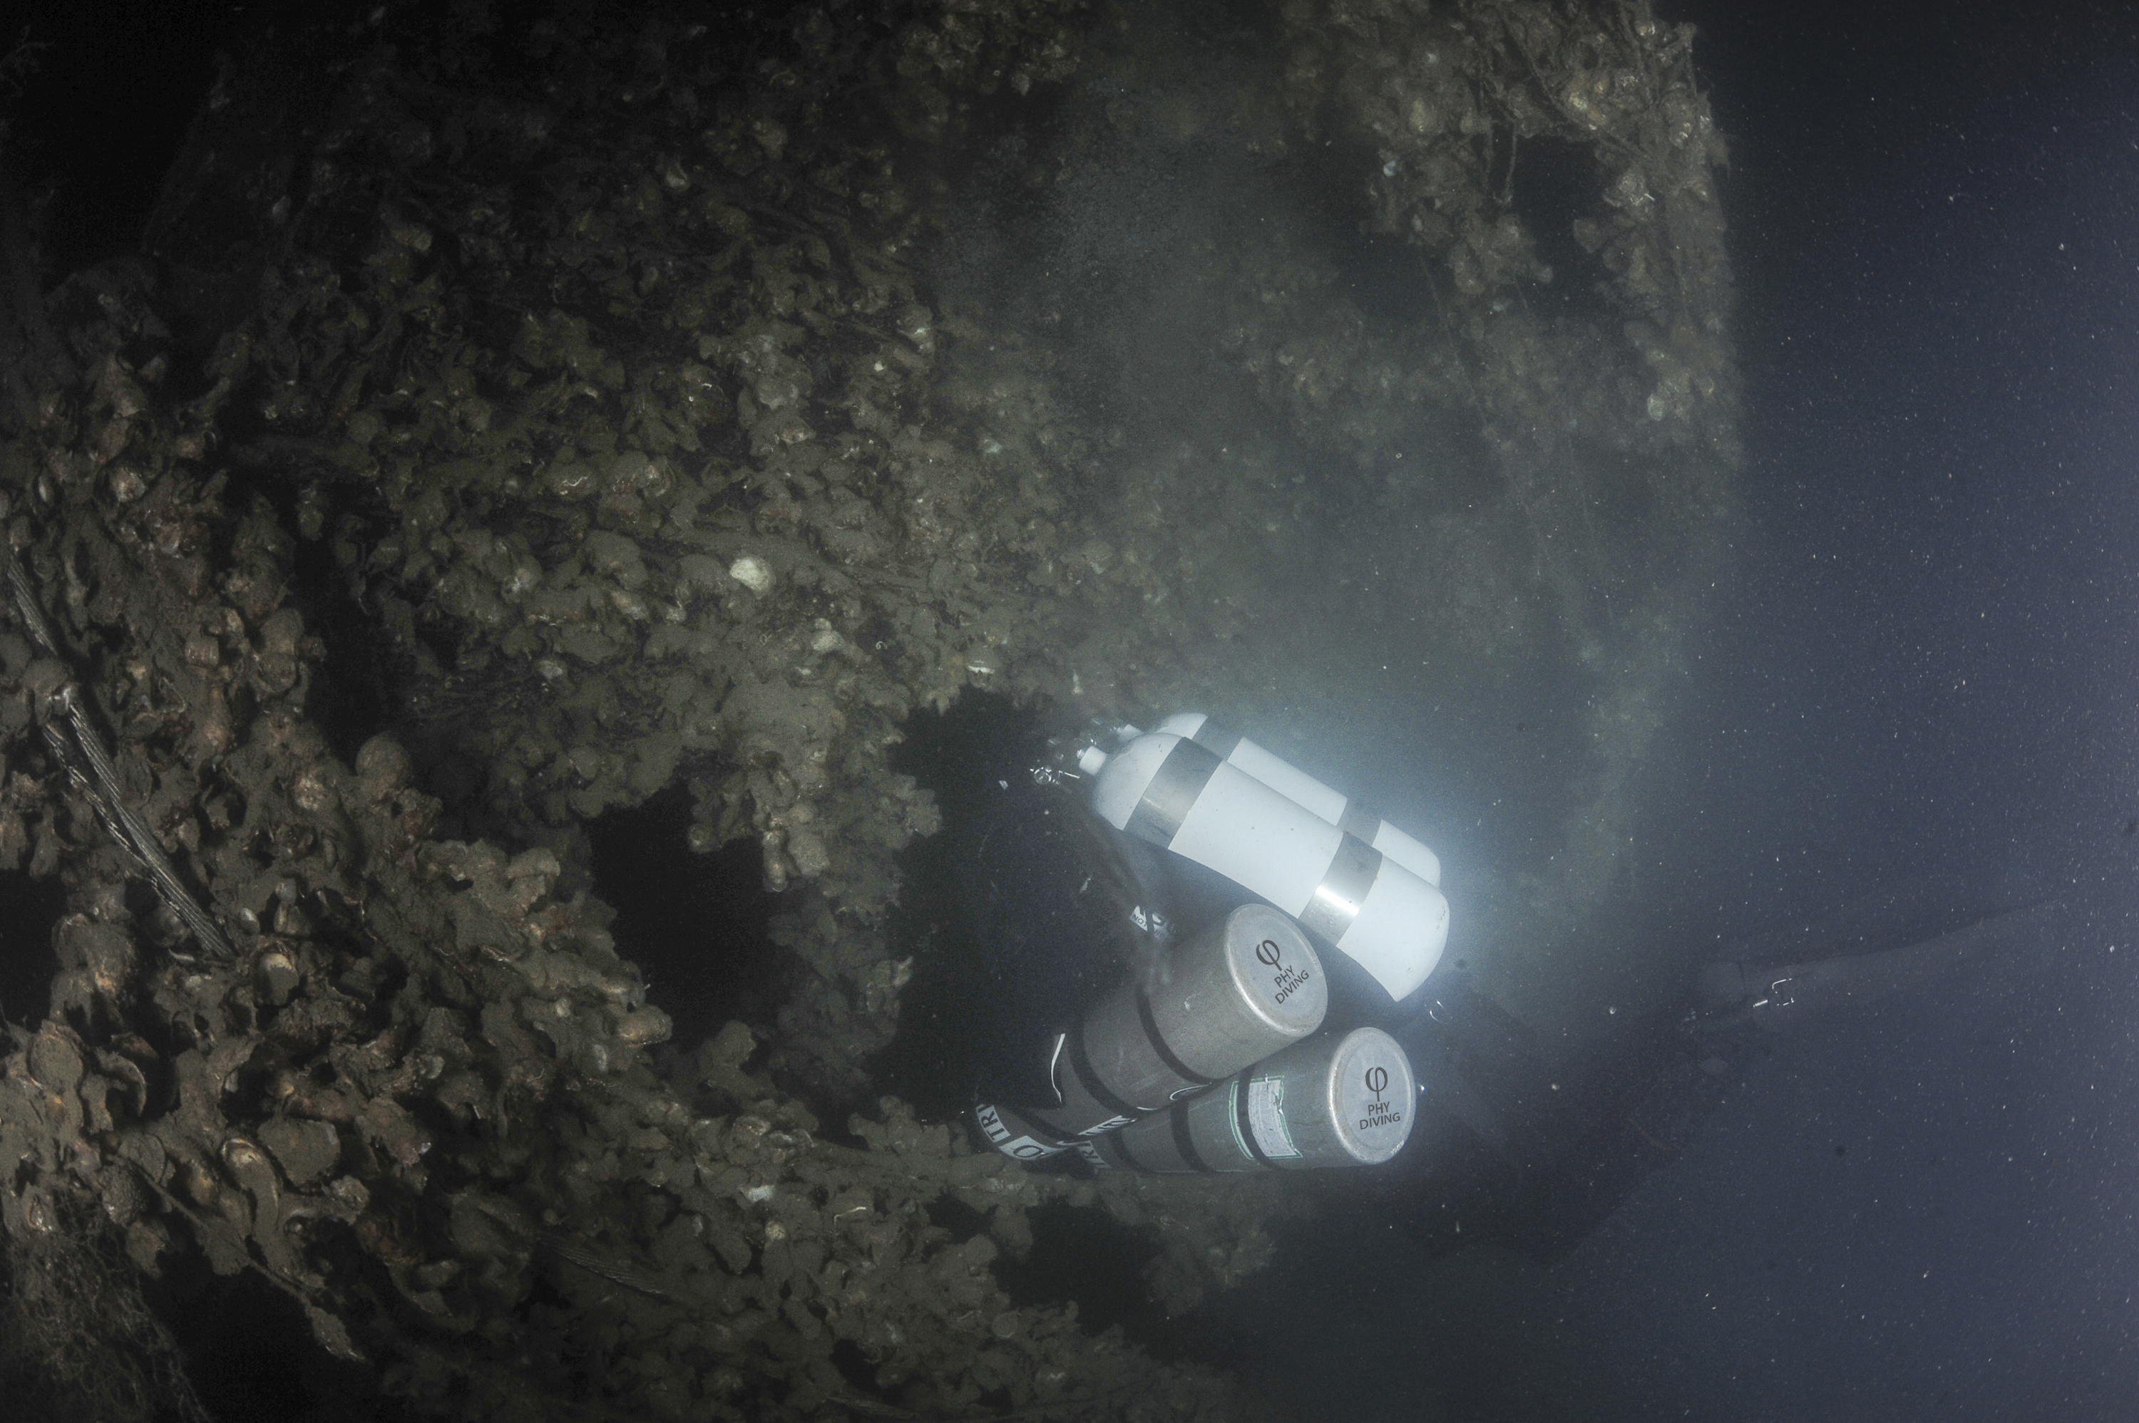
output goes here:
[{"label": "nearer, fully visible white diving cylinder with two metal bands", "polygon": [[[1275,761],[1275,756],[1273,756]],[[1433,972],[1448,942],[1442,891],[1358,835],[1168,731],[1078,763],[1102,820],[1217,870],[1348,953],[1390,998]]]}]

